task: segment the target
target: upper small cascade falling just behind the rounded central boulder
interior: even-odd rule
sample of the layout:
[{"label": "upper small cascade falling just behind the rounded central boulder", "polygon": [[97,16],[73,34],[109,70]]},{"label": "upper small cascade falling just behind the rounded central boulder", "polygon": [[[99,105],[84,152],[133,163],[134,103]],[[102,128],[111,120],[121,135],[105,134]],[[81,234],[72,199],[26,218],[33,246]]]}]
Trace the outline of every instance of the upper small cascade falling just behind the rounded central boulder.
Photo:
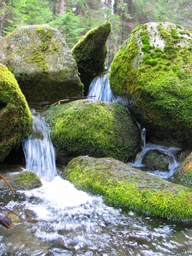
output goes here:
[{"label": "upper small cascade falling just behind the rounded central boulder", "polygon": [[104,102],[112,101],[112,92],[109,84],[109,73],[95,77],[90,83],[88,96],[96,96],[95,99]]}]

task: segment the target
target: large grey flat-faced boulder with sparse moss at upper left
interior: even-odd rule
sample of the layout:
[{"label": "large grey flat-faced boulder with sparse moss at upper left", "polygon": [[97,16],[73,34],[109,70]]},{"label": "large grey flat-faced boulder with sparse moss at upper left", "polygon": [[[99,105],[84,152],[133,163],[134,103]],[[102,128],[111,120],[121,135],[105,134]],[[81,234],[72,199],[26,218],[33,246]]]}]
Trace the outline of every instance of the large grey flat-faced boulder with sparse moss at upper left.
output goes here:
[{"label": "large grey flat-faced boulder with sparse moss at upper left", "polygon": [[27,102],[49,104],[83,95],[77,63],[58,30],[22,26],[0,44],[0,62],[13,72]]}]

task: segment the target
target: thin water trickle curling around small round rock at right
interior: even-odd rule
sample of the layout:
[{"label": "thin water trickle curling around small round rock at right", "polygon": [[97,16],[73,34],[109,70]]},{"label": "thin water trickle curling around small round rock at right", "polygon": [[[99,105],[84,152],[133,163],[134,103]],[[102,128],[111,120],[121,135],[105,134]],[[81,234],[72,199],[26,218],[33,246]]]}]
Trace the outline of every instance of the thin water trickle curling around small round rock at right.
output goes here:
[{"label": "thin water trickle curling around small round rock at right", "polygon": [[141,127],[138,124],[138,127],[141,129],[141,152],[136,155],[136,159],[134,163],[129,163],[130,166],[136,168],[145,168],[145,164],[143,164],[143,158],[145,155],[152,151],[157,150],[160,154],[165,154],[168,157],[168,170],[167,171],[160,171],[160,170],[149,170],[150,173],[162,177],[164,179],[168,179],[172,177],[175,173],[176,168],[179,166],[179,162],[176,160],[175,155],[179,151],[177,147],[165,147],[162,145],[155,145],[152,143],[146,143],[146,129],[145,127]]}]

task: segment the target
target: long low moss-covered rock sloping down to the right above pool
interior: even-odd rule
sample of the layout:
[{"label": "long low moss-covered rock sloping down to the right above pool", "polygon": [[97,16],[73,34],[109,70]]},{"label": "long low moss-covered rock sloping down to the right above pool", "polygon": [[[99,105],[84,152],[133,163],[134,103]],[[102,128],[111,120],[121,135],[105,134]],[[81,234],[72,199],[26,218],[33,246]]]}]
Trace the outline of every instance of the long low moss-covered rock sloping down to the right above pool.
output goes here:
[{"label": "long low moss-covered rock sloping down to the right above pool", "polygon": [[115,159],[77,157],[67,164],[66,176],[77,189],[103,195],[109,205],[178,221],[192,220],[191,189]]}]

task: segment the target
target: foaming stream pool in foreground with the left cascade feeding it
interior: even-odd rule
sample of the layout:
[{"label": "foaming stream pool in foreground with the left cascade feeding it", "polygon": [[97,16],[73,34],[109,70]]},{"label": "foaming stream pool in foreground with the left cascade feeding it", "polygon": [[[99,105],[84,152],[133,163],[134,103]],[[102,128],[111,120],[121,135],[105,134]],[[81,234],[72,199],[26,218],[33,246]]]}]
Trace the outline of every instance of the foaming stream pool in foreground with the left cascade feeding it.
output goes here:
[{"label": "foaming stream pool in foreground with the left cascade feeding it", "polygon": [[[143,141],[143,149],[148,147]],[[7,211],[13,227],[0,226],[1,256],[192,255],[191,224],[110,207],[62,179],[49,133],[38,116],[33,117],[33,134],[24,141],[24,152],[26,168],[20,171],[38,173],[42,186],[0,193],[1,202],[17,214]]]}]

